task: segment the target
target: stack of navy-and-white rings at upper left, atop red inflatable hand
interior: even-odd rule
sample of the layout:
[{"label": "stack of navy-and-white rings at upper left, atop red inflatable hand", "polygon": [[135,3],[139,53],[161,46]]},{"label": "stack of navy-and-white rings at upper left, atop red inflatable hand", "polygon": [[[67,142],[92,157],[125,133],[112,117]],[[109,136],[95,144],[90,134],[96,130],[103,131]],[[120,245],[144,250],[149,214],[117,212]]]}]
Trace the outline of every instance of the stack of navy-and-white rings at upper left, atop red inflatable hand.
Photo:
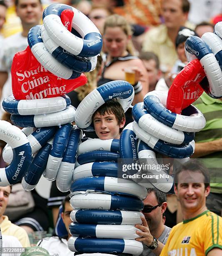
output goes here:
[{"label": "stack of navy-and-white rings at upper left, atop red inflatable hand", "polygon": [[[72,10],[72,32],[62,24],[61,13]],[[97,27],[79,10],[65,4],[45,8],[43,25],[28,33],[28,44],[45,69],[64,79],[74,79],[81,72],[95,69],[102,49],[102,36]]]}]

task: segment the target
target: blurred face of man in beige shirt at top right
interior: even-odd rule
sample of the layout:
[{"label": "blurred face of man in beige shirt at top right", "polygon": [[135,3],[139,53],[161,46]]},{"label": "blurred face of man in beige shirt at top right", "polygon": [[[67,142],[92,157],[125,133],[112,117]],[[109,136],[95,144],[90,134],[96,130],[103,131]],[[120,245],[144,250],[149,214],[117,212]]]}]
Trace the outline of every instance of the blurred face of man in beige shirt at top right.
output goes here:
[{"label": "blurred face of man in beige shirt at top right", "polygon": [[162,16],[169,29],[179,28],[187,20],[187,13],[182,11],[181,0],[163,0]]}]

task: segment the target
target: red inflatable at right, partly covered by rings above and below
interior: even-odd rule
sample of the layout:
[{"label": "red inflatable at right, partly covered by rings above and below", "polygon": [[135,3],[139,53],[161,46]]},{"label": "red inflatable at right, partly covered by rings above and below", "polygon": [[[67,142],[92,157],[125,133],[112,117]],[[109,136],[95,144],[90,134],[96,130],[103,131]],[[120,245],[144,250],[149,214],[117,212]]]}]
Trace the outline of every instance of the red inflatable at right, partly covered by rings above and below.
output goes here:
[{"label": "red inflatable at right, partly covered by rings above and below", "polygon": [[181,110],[187,108],[197,100],[203,93],[200,82],[206,76],[200,61],[190,61],[182,71],[177,74],[167,97],[167,109],[180,114]]}]

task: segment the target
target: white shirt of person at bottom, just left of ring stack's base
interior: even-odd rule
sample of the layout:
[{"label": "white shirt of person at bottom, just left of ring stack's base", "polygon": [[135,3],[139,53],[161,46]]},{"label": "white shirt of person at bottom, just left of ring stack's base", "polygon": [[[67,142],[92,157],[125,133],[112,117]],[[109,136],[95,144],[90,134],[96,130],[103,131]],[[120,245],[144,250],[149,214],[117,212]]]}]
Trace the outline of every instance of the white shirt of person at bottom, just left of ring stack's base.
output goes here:
[{"label": "white shirt of person at bottom, just left of ring stack's base", "polygon": [[66,239],[59,239],[57,236],[43,238],[36,246],[46,249],[50,256],[74,256],[74,251],[70,251]]}]

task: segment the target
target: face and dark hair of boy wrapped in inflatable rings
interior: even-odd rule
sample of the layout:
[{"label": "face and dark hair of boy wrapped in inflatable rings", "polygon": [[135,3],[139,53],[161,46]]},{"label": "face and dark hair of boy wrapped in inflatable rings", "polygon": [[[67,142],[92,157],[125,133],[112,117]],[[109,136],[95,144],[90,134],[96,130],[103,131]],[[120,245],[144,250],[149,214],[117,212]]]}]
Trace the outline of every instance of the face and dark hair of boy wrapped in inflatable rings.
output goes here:
[{"label": "face and dark hair of boy wrapped in inflatable rings", "polygon": [[125,113],[120,103],[113,99],[105,102],[92,115],[95,133],[101,140],[119,139],[125,125]]}]

